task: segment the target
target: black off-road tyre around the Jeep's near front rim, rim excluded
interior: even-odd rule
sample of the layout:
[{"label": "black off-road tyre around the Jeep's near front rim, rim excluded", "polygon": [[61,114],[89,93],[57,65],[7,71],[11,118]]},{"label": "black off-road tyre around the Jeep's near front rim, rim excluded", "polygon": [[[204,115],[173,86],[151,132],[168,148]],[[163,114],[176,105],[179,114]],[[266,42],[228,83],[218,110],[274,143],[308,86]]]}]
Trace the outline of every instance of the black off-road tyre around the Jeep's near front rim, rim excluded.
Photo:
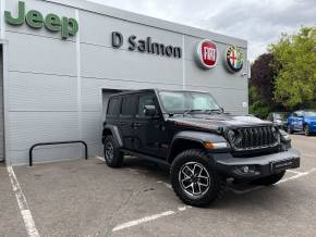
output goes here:
[{"label": "black off-road tyre around the Jeep's near front rim, rim excluded", "polygon": [[[181,169],[191,162],[200,164],[209,175],[209,188],[205,194],[196,197],[189,195],[180,180]],[[214,170],[210,157],[203,150],[186,150],[177,155],[171,165],[170,178],[175,195],[184,203],[195,207],[207,207],[214,201],[220,199],[223,196],[226,188],[226,178]]]}]

